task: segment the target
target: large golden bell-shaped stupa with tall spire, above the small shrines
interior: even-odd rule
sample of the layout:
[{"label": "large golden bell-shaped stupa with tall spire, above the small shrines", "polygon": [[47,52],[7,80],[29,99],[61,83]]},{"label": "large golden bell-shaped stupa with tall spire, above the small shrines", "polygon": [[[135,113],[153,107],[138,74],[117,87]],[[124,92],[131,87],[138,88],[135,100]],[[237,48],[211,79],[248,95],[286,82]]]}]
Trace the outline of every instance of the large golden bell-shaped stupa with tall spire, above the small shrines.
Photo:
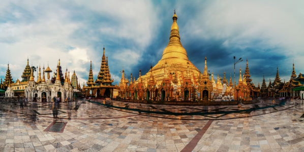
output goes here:
[{"label": "large golden bell-shaped stupa with tall spire, above the small shrines", "polygon": [[[184,77],[190,76],[191,81],[193,83],[198,82],[198,77],[200,71],[191,63],[188,59],[187,52],[183,45],[180,43],[178,25],[177,25],[177,15],[175,14],[172,17],[173,23],[171,26],[171,33],[169,37],[169,43],[165,48],[162,59],[158,61],[158,63],[146,73],[146,75],[141,76],[142,82],[145,82],[145,79],[150,78],[150,72],[155,75],[155,79],[157,84],[160,84],[164,79],[165,74],[165,64],[167,63],[167,73],[174,73],[171,77],[177,78],[180,82],[175,82],[177,85],[181,85],[179,83],[183,83]],[[174,79],[172,78],[172,80]],[[148,80],[147,80],[148,81]],[[138,80],[135,82],[138,83]]]}]

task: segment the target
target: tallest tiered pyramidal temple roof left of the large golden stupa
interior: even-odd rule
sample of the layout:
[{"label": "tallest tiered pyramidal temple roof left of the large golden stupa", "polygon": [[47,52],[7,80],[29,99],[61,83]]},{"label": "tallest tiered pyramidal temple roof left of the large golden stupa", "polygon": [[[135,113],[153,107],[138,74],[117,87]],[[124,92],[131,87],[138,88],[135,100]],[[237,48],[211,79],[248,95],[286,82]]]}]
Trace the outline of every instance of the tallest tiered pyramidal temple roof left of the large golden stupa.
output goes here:
[{"label": "tallest tiered pyramidal temple roof left of the large golden stupa", "polygon": [[108,57],[105,56],[105,47],[103,48],[103,56],[95,84],[112,84],[111,74],[108,66]]}]

